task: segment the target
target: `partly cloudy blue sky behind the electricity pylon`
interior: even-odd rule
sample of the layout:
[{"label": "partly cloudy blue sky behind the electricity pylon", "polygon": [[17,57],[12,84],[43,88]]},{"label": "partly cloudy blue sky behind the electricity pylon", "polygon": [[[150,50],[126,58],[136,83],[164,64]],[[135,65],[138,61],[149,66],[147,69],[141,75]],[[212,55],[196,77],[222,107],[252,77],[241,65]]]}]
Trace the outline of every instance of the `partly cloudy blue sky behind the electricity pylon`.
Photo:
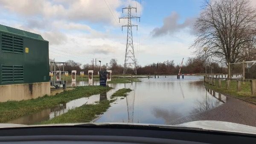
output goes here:
[{"label": "partly cloudy blue sky behind the electricity pylon", "polygon": [[[253,0],[256,4],[256,0]],[[134,53],[139,65],[193,57],[193,22],[202,0],[0,0],[0,24],[42,35],[49,58],[103,64],[116,58],[124,64],[127,24],[119,17],[131,5]]]}]

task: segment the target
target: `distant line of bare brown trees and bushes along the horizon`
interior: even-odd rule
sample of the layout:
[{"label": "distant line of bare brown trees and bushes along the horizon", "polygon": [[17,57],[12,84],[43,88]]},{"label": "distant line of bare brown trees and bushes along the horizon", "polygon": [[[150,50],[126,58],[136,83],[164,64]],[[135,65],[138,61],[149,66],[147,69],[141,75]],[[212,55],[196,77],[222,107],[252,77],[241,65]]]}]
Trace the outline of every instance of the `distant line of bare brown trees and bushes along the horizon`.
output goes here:
[{"label": "distant line of bare brown trees and bushes along the horizon", "polygon": [[[53,61],[53,60],[49,60]],[[62,70],[62,65],[57,65],[57,70]],[[186,74],[200,74],[205,73],[205,61],[201,58],[188,58],[186,63],[183,64],[180,73]],[[213,69],[212,69],[213,68]],[[64,71],[68,71],[71,73],[72,70],[76,70],[77,73],[85,72],[87,73],[88,70],[94,70],[95,74],[99,70],[112,70],[113,75],[122,75],[123,74],[123,66],[117,63],[117,59],[112,58],[109,63],[99,66],[94,66],[92,64],[86,63],[81,65],[81,63],[76,62],[74,60],[67,60],[64,64]],[[174,60],[166,60],[163,62],[155,62],[145,66],[138,65],[137,66],[137,74],[138,75],[177,75],[180,69],[180,64],[175,64]],[[212,62],[207,63],[207,73],[227,73],[227,69],[221,67],[218,63]],[[134,72],[128,69],[126,74],[134,74]]]}]

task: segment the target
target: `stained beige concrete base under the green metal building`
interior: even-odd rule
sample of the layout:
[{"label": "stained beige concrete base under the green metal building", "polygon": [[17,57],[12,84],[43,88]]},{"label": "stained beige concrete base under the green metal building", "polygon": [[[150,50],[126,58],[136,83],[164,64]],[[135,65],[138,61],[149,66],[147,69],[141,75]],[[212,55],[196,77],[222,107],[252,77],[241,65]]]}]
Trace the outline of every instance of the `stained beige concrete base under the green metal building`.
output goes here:
[{"label": "stained beige concrete base under the green metal building", "polygon": [[21,101],[50,95],[50,82],[0,85],[0,102]]}]

